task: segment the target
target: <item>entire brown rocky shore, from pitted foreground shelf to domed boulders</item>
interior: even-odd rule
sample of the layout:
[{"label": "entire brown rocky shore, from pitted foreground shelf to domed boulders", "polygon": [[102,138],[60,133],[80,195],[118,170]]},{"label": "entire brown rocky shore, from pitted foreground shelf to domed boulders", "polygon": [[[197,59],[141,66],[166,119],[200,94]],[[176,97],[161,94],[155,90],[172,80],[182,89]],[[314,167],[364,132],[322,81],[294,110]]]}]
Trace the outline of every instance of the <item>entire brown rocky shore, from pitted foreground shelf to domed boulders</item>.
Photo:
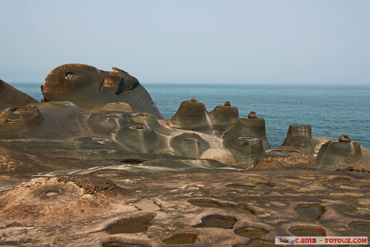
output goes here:
[{"label": "entire brown rocky shore, from pitted foreground shelf to domed boulders", "polygon": [[[65,64],[37,102],[0,81],[0,246],[273,246],[370,239],[370,150],[196,99],[163,119],[135,77]],[[345,137],[345,138],[343,138]]]}]

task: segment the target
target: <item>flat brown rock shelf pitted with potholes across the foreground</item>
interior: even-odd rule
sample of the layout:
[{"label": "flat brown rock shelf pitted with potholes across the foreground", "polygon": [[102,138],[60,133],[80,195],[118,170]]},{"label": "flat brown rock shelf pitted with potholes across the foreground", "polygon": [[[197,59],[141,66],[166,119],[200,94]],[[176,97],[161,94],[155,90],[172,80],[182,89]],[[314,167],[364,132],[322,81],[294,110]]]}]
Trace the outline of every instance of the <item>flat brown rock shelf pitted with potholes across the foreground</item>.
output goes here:
[{"label": "flat brown rock shelf pitted with potholes across the foreground", "polygon": [[273,246],[276,236],[369,237],[369,173],[133,174],[140,166],[21,183],[0,197],[1,246],[242,247]]}]

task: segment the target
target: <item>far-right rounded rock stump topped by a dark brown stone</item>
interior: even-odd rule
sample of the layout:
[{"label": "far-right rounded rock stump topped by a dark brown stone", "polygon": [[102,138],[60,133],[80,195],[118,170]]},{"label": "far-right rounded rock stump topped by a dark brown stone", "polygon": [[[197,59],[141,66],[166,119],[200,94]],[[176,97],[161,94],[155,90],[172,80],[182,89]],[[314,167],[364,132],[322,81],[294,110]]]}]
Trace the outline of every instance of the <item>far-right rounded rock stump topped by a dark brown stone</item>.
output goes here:
[{"label": "far-right rounded rock stump topped by a dark brown stone", "polygon": [[[350,140],[348,136],[344,138],[345,140]],[[354,167],[355,169],[366,168],[370,170],[369,158],[362,157],[360,143],[356,140],[347,142],[335,139],[324,143],[319,149],[316,161],[326,170],[347,167]]]}]

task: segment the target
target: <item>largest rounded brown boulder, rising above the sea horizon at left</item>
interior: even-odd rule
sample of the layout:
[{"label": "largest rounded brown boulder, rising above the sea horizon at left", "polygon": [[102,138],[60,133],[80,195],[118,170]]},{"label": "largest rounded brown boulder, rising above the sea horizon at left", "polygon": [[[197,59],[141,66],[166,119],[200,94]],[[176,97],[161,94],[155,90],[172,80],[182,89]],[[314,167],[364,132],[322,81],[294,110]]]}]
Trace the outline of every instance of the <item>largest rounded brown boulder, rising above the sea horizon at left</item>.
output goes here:
[{"label": "largest rounded brown boulder, rising above the sea horizon at left", "polygon": [[117,68],[108,72],[85,64],[64,64],[48,74],[41,91],[44,101],[70,101],[85,111],[124,102],[135,111],[148,111],[163,119],[139,81]]}]

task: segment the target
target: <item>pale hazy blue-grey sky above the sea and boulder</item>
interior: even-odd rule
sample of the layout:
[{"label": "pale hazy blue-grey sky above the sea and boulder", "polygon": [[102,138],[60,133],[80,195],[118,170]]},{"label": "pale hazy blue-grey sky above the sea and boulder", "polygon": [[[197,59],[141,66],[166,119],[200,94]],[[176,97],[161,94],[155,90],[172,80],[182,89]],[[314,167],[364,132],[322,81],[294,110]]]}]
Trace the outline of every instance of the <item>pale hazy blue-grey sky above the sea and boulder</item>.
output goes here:
[{"label": "pale hazy blue-grey sky above the sea and boulder", "polygon": [[142,83],[370,85],[369,0],[0,0],[0,79],[82,63]]}]

